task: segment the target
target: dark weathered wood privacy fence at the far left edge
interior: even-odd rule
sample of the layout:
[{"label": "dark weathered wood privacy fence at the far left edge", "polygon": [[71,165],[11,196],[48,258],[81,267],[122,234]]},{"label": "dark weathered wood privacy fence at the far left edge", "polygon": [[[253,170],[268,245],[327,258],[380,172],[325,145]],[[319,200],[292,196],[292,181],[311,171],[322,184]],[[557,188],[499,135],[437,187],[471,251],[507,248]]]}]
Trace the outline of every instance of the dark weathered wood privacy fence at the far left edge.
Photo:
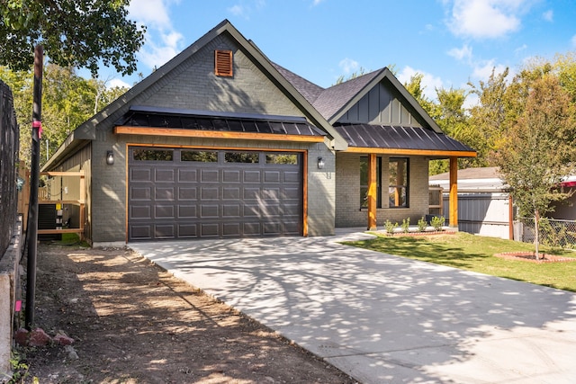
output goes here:
[{"label": "dark weathered wood privacy fence at the far left edge", "polygon": [[0,258],[10,244],[16,221],[19,138],[12,91],[0,81]]}]

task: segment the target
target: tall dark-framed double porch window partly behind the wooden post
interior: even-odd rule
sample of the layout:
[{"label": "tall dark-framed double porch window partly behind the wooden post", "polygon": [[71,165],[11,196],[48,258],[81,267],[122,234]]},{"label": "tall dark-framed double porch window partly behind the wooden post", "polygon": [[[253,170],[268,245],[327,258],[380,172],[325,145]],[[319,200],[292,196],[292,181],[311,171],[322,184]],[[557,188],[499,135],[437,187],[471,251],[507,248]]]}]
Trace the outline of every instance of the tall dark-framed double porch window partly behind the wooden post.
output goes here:
[{"label": "tall dark-framed double porch window partly behind the wooden post", "polygon": [[[388,207],[407,208],[410,180],[408,158],[391,158],[388,177]],[[383,208],[382,179],[383,158],[376,157],[376,208]],[[360,208],[368,208],[368,157],[360,157]]]}]

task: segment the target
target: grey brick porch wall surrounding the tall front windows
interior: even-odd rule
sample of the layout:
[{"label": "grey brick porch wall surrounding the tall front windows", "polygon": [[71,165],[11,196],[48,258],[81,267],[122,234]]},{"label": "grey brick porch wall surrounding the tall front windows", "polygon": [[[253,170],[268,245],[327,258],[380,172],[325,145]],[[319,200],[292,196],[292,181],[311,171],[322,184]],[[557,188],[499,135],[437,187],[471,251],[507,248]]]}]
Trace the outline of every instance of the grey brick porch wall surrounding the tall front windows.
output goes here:
[{"label": "grey brick porch wall surrounding the tall front windows", "polygon": [[[360,156],[359,154],[338,153],[336,156],[336,227],[367,227],[368,211],[360,210]],[[388,157],[383,157],[383,169],[387,169]],[[388,175],[383,173],[383,183]],[[385,185],[385,184],[384,184]],[[383,188],[386,195],[386,189]],[[389,219],[402,222],[410,218],[416,225],[428,214],[428,160],[423,157],[410,158],[410,208],[381,208],[376,211],[376,225],[383,228]],[[383,198],[383,205],[388,203]]]}]

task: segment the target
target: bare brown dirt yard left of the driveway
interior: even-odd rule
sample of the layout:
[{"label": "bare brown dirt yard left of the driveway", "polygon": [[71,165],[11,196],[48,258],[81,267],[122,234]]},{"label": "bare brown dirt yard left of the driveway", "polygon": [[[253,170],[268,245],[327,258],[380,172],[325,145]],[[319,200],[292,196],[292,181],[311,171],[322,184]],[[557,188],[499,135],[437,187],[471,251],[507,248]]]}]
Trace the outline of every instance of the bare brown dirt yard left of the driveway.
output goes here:
[{"label": "bare brown dirt yard left of the driveway", "polygon": [[356,382],[129,249],[40,244],[35,323],[75,341],[19,348],[22,382]]}]

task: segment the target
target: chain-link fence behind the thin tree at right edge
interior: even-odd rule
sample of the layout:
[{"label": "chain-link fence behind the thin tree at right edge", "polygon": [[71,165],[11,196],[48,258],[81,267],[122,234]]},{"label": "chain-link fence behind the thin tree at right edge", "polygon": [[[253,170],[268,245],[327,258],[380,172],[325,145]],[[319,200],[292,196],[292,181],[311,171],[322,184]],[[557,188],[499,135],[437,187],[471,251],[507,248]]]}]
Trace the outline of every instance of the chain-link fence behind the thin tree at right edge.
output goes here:
[{"label": "chain-link fence behind the thin tree at right edge", "polygon": [[[576,248],[576,221],[558,219],[540,219],[539,239],[545,246]],[[534,243],[536,231],[534,218],[520,218],[514,223],[515,236],[524,243]]]}]

